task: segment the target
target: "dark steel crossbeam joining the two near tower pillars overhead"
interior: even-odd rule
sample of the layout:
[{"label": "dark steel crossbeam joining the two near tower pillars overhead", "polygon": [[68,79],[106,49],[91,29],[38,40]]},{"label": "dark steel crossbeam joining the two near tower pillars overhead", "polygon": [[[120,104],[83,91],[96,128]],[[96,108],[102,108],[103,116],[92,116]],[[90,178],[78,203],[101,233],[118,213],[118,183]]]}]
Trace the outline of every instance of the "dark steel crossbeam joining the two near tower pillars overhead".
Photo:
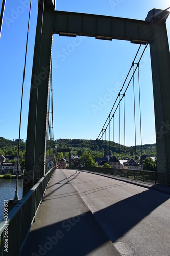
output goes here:
[{"label": "dark steel crossbeam joining the two near tower pillars overhead", "polygon": [[128,40],[139,44],[152,41],[150,22],[64,11],[54,12],[53,33],[103,40]]}]

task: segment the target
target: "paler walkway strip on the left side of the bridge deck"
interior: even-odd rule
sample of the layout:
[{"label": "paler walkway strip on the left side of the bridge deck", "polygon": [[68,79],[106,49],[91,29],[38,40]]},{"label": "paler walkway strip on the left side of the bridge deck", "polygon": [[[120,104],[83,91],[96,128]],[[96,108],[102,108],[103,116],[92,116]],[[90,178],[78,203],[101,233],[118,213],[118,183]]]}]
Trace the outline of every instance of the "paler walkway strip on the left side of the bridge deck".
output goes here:
[{"label": "paler walkway strip on the left side of the bridge deck", "polygon": [[119,253],[62,170],[56,170],[20,255]]}]

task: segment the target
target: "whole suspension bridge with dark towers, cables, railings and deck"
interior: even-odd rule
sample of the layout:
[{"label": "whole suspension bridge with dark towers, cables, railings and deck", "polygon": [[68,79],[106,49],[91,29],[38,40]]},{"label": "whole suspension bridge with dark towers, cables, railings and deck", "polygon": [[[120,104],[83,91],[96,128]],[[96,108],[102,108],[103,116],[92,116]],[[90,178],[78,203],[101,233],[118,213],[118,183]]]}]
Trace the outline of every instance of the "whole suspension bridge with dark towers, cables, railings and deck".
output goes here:
[{"label": "whole suspension bridge with dark towers, cables, railings and deck", "polygon": [[[127,255],[151,255],[152,253],[154,255],[169,255],[169,229],[167,228],[169,220],[167,216],[170,194],[168,186],[170,184],[170,57],[166,31],[168,8],[166,10],[153,9],[149,11],[145,21],[56,11],[55,9],[55,0],[39,0],[30,89],[23,198],[18,199],[16,189],[15,201],[17,204],[9,212],[8,218],[1,221],[0,253],[1,255],[8,253],[9,255],[123,255],[126,253]],[[1,15],[1,23],[2,17],[3,15]],[[140,61],[149,45],[156,135],[161,134],[156,141],[157,182],[159,185],[153,187],[149,184],[142,184],[137,188],[136,183],[126,183],[125,180],[121,180],[123,178],[120,178],[119,181],[111,179],[111,173],[105,172],[107,176],[104,178],[103,176],[81,172],[82,170],[87,171],[87,169],[81,167],[79,167],[79,170],[55,170],[56,149],[53,142],[52,79],[53,34],[70,37],[87,36],[109,41],[119,39],[139,44],[139,49],[136,56],[134,56],[122,88],[120,88],[106,122],[89,153],[95,150],[99,141],[103,140],[103,136],[106,138],[106,132],[109,134],[109,141],[112,133],[114,142],[115,125],[118,126],[119,145],[121,147],[120,123],[122,122],[120,122],[120,118],[122,117],[120,109],[123,110],[123,141],[124,148],[126,148],[125,98],[130,83],[133,84],[136,147],[136,84],[134,75],[137,72],[142,155]],[[117,113],[118,122],[115,123],[114,118]],[[69,152],[70,167],[72,154],[70,148],[69,150],[60,148],[58,151]],[[94,173],[95,169],[92,172]],[[96,182],[98,182],[98,185],[96,185]],[[85,186],[84,183],[88,185]],[[48,189],[46,190],[47,186]],[[109,194],[110,191],[111,194]],[[109,196],[114,193],[114,198]],[[156,201],[155,197],[157,197]],[[127,207],[129,207],[128,210]],[[125,217],[123,212],[126,212],[126,210],[127,216],[125,215]],[[133,211],[135,214],[132,214]],[[115,221],[112,221],[111,216],[113,215]],[[154,220],[150,225],[150,220],[159,215],[160,218]],[[126,221],[125,218],[127,218]],[[148,227],[142,233],[141,229],[144,225]],[[155,225],[159,226],[159,232],[155,230]],[[150,232],[152,236],[149,234]],[[159,239],[164,247],[153,241],[153,232],[158,232],[156,241]],[[5,240],[7,233],[8,239]],[[132,242],[132,236],[134,237],[134,243]],[[76,246],[75,238],[77,240]],[[142,239],[144,239],[143,242]],[[151,246],[153,243],[154,246]],[[34,246],[30,246],[32,244]],[[142,254],[143,244],[145,244],[145,248]],[[8,252],[5,250],[5,246],[8,247]]]}]

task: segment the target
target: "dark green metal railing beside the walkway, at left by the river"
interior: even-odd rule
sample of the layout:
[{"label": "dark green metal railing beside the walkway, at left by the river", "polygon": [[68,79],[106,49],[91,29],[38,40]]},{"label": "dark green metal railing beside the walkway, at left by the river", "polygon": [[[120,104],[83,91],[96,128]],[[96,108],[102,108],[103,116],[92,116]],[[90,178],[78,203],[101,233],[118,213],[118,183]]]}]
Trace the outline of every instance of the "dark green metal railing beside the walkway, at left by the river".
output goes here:
[{"label": "dark green metal railing beside the walkway, at left by the river", "polygon": [[49,170],[0,222],[0,255],[20,254],[55,169]]}]

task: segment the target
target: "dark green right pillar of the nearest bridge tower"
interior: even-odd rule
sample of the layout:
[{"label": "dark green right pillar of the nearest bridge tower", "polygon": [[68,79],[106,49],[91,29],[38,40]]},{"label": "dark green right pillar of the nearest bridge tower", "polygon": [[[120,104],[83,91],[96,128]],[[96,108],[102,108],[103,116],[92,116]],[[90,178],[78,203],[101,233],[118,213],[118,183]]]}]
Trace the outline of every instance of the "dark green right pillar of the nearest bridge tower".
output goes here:
[{"label": "dark green right pillar of the nearest bridge tower", "polygon": [[[158,11],[158,10],[156,10]],[[160,10],[161,11],[161,10]],[[150,11],[152,42],[150,43],[158,182],[170,184],[170,55],[165,21],[167,15]]]}]

